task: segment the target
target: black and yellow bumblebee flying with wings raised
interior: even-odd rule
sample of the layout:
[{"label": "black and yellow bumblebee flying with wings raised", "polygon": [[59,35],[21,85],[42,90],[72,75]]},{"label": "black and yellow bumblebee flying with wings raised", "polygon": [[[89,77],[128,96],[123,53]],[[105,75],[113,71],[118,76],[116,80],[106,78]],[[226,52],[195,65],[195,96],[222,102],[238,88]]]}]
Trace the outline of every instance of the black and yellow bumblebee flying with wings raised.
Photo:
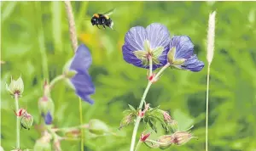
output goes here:
[{"label": "black and yellow bumblebee flying with wings raised", "polygon": [[106,26],[108,26],[113,30],[113,20],[111,20],[109,17],[109,15],[113,14],[113,11],[114,9],[111,9],[104,14],[93,14],[90,20],[91,25],[96,25],[98,28],[99,28],[99,25],[102,25],[104,29],[106,29]]}]

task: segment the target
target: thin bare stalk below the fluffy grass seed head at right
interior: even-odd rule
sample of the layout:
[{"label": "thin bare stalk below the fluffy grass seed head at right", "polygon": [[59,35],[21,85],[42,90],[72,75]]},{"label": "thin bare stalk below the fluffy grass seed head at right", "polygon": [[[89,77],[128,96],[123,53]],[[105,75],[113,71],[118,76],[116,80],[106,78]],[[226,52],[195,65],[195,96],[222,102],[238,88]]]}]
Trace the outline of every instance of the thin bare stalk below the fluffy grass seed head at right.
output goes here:
[{"label": "thin bare stalk below the fluffy grass seed head at right", "polygon": [[208,151],[209,82],[210,82],[210,64],[208,64],[208,70],[207,70],[206,151]]}]

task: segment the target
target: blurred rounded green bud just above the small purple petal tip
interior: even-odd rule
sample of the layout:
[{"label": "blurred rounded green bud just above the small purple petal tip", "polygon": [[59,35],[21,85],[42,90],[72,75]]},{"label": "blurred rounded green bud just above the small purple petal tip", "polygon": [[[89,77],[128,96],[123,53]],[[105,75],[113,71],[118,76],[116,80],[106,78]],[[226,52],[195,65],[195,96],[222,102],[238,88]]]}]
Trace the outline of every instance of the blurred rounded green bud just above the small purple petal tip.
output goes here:
[{"label": "blurred rounded green bud just above the small purple petal tip", "polygon": [[44,96],[38,101],[38,109],[43,116],[46,115],[48,112],[54,114],[55,103],[51,98]]}]

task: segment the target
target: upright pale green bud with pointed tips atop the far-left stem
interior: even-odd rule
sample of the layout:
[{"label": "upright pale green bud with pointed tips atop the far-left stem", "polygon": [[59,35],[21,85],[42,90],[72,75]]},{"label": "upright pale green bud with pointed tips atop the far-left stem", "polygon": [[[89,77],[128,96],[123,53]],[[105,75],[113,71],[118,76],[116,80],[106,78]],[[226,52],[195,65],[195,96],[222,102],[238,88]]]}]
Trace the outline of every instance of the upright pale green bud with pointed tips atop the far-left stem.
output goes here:
[{"label": "upright pale green bud with pointed tips atop the far-left stem", "polygon": [[15,81],[11,78],[11,82],[10,82],[9,86],[6,84],[6,90],[13,97],[15,97],[15,95],[17,95],[18,97],[21,97],[21,94],[24,91],[24,84],[21,79],[21,76],[19,77],[19,79],[17,81]]}]

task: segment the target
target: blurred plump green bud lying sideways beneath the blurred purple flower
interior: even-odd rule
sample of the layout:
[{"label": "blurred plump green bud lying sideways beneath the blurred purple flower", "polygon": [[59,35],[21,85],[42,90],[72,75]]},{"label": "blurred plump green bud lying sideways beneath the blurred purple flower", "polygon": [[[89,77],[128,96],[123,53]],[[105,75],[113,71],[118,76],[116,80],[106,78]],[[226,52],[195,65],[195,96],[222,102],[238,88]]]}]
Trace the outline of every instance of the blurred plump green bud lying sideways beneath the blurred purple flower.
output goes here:
[{"label": "blurred plump green bud lying sideways beneath the blurred purple flower", "polygon": [[89,131],[96,135],[103,135],[109,131],[108,126],[101,120],[93,119],[89,121]]}]

